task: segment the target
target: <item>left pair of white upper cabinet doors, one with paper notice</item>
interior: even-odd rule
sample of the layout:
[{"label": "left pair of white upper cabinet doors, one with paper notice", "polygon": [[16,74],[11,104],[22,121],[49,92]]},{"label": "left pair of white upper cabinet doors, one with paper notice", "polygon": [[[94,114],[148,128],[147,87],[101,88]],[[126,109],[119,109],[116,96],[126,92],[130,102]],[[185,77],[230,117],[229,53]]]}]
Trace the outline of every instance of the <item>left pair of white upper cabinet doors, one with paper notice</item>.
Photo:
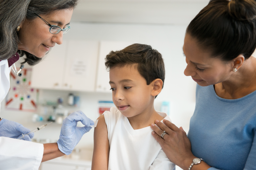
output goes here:
[{"label": "left pair of white upper cabinet doors, one with paper notice", "polygon": [[63,41],[33,67],[31,86],[38,89],[94,91],[99,42]]}]

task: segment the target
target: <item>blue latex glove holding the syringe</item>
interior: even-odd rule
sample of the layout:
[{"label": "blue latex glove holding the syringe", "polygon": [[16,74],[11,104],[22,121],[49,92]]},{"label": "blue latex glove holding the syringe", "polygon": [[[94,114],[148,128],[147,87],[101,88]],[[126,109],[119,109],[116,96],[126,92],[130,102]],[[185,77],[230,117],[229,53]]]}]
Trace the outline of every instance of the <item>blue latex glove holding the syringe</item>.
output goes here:
[{"label": "blue latex glove holding the syringe", "polygon": [[[0,137],[19,138],[22,136],[22,133],[27,134],[29,132],[30,130],[28,128],[17,122],[6,119],[0,121]],[[30,133],[29,135],[25,135],[24,138],[21,138],[21,140],[31,141],[33,137],[34,133]]]}]

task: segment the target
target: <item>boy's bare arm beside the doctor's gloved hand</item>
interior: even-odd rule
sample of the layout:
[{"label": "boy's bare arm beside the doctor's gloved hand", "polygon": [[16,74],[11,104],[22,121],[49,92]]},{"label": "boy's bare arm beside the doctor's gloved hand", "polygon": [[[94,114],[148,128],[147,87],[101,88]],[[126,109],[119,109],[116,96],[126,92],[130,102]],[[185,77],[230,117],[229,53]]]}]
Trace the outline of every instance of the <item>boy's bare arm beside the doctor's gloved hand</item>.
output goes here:
[{"label": "boy's bare arm beside the doctor's gloved hand", "polygon": [[92,170],[108,170],[109,142],[108,129],[104,115],[100,116],[97,127],[94,128],[94,148]]}]

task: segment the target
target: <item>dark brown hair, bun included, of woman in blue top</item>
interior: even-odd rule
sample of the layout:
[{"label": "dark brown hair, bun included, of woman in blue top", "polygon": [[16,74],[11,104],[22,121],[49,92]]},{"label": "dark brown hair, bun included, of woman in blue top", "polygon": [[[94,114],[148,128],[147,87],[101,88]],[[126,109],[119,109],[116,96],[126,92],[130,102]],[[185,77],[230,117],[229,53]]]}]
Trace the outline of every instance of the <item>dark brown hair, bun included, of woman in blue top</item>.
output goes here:
[{"label": "dark brown hair, bun included, of woman in blue top", "polygon": [[187,33],[212,57],[229,61],[243,54],[248,59],[256,48],[256,1],[211,0],[190,22]]}]

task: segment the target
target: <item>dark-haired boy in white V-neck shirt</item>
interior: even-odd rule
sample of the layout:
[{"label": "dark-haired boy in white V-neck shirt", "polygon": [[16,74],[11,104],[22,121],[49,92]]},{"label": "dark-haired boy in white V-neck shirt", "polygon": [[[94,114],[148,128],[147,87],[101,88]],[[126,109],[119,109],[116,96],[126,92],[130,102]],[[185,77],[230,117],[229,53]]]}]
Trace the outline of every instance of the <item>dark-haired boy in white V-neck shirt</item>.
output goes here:
[{"label": "dark-haired boy in white V-neck shirt", "polygon": [[151,123],[171,119],[154,109],[164,84],[164,60],[151,46],[133,44],[105,58],[116,107],[100,116],[94,129],[92,170],[172,170]]}]

